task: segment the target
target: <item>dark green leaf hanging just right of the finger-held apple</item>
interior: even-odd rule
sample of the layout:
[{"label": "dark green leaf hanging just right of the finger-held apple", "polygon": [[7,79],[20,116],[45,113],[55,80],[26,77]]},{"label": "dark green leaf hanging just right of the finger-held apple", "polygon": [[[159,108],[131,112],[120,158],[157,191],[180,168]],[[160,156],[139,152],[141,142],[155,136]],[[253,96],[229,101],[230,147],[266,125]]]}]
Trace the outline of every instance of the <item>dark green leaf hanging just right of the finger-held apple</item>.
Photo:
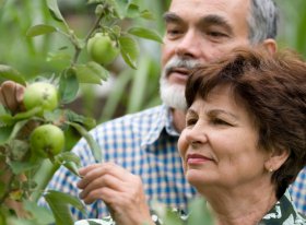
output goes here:
[{"label": "dark green leaf hanging just right of the finger-held apple", "polygon": [[59,94],[63,104],[71,103],[76,98],[79,91],[79,81],[74,69],[70,68],[64,71],[59,81]]}]

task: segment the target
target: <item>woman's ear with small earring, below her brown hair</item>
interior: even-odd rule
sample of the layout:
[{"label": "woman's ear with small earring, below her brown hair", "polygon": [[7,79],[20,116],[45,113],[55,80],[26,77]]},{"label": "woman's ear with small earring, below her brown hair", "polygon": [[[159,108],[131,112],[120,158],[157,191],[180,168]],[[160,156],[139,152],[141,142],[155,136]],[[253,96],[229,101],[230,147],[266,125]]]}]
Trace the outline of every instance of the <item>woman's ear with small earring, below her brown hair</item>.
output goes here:
[{"label": "woman's ear with small earring, below her brown hair", "polygon": [[264,163],[264,168],[268,171],[278,170],[289,158],[289,150],[273,150],[270,154],[270,157]]}]

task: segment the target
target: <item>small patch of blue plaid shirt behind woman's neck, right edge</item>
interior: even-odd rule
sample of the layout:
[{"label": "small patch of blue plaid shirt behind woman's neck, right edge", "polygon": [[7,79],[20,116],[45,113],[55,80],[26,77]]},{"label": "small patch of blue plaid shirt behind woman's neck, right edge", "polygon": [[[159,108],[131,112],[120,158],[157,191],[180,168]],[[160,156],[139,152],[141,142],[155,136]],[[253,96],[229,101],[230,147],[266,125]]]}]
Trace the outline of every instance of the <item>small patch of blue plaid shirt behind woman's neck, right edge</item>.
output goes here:
[{"label": "small patch of blue plaid shirt behind woman's neck, right edge", "polygon": [[297,211],[306,215],[306,167],[299,171],[290,191]]}]

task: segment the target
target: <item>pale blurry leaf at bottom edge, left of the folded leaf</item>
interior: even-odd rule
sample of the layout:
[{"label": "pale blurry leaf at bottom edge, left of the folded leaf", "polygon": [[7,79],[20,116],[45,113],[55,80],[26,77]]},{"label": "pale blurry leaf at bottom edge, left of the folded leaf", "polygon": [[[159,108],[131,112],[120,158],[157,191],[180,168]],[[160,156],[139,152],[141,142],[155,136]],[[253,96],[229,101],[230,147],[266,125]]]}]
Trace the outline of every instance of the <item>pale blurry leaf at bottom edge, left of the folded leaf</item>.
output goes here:
[{"label": "pale blurry leaf at bottom edge, left of the folded leaf", "polygon": [[55,217],[52,213],[46,208],[38,206],[36,202],[24,201],[24,209],[28,211],[37,224],[47,225],[55,223]]}]

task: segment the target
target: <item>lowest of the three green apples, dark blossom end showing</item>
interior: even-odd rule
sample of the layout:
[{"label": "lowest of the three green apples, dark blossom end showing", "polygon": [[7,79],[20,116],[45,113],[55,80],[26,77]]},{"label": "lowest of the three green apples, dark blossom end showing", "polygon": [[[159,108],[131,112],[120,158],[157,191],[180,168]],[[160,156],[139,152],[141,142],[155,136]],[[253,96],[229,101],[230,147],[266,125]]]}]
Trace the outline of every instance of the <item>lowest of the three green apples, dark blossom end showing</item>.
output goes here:
[{"label": "lowest of the three green apples, dark blossom end showing", "polygon": [[64,147],[63,131],[55,125],[42,125],[31,133],[30,146],[36,156],[52,157]]}]

